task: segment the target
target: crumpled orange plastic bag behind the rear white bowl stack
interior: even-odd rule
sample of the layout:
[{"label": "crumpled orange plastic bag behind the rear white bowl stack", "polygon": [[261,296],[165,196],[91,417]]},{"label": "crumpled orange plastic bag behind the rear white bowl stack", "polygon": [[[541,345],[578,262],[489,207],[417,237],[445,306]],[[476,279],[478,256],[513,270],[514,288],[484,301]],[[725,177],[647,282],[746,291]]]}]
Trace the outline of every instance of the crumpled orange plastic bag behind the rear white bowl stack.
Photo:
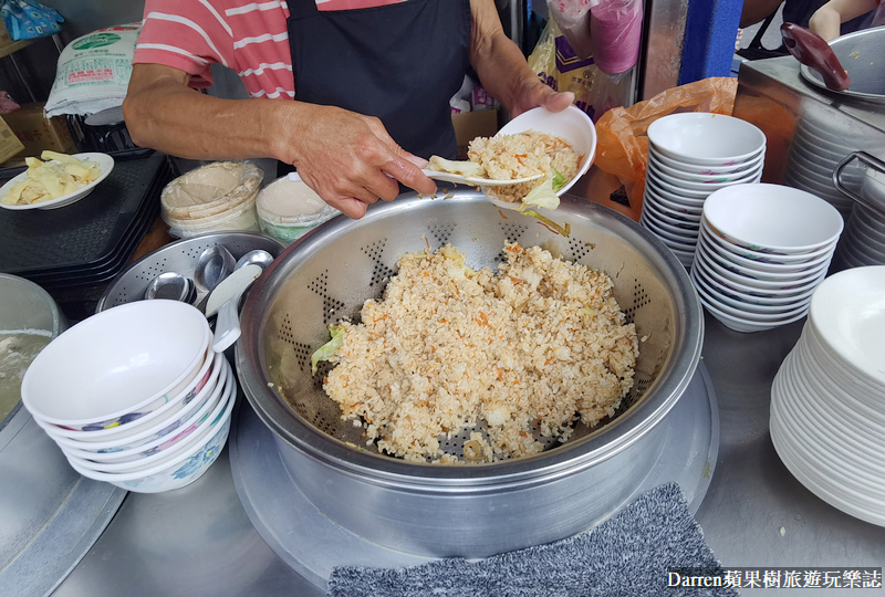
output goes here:
[{"label": "crumpled orange plastic bag behind the rear white bowl stack", "polygon": [[710,112],[731,115],[738,80],[712,77],[680,85],[628,108],[612,108],[596,123],[596,157],[593,164],[615,175],[624,185],[631,217],[638,221],[645,191],[648,160],[648,126],[679,112]]}]

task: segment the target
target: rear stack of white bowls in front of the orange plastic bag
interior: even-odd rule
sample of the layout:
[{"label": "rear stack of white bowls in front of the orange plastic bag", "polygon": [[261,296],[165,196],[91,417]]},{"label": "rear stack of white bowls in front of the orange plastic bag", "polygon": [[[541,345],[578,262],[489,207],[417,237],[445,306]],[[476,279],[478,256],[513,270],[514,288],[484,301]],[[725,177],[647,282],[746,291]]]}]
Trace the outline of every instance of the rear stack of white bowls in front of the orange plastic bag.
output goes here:
[{"label": "rear stack of white bowls in front of the orange plastic bag", "polygon": [[648,127],[648,164],[639,222],[686,268],[691,265],[704,201],[732,185],[758,182],[766,135],[740,118],[686,113]]}]

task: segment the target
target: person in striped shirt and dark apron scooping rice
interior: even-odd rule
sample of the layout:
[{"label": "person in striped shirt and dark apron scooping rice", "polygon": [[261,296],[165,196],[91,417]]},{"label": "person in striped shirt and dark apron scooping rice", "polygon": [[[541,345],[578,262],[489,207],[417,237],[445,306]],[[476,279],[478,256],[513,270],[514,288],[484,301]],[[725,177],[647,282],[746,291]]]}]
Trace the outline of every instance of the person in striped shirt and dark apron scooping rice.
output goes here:
[{"label": "person in striped shirt and dark apron scooping rice", "polygon": [[[250,100],[199,93],[212,63]],[[272,157],[361,218],[455,157],[449,98],[465,73],[512,115],[574,100],[540,82],[494,0],[146,0],[123,104],[133,140],[190,159]]]}]

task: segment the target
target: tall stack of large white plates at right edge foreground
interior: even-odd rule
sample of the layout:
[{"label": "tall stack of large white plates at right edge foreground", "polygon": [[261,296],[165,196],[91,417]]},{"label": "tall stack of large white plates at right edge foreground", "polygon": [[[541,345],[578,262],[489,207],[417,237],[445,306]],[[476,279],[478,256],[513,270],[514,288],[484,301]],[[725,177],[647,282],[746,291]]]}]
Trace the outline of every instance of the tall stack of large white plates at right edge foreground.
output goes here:
[{"label": "tall stack of large white plates at right edge foreground", "polygon": [[885,526],[885,266],[833,274],[771,387],[771,441],[829,504]]}]

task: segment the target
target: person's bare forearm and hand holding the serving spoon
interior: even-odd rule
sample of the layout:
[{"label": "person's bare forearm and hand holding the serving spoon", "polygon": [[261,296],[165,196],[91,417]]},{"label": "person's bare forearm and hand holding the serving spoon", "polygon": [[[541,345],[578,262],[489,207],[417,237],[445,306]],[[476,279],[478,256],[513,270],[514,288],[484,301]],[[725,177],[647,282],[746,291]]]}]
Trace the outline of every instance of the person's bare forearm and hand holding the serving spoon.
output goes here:
[{"label": "person's bare forearm and hand holding the serving spoon", "polygon": [[397,180],[433,195],[436,185],[381,121],[333,106],[278,100],[222,100],[188,87],[190,75],[135,64],[123,103],[142,147],[190,159],[275,158],[293,164],[332,207],[352,218],[378,198],[393,200]]}]

